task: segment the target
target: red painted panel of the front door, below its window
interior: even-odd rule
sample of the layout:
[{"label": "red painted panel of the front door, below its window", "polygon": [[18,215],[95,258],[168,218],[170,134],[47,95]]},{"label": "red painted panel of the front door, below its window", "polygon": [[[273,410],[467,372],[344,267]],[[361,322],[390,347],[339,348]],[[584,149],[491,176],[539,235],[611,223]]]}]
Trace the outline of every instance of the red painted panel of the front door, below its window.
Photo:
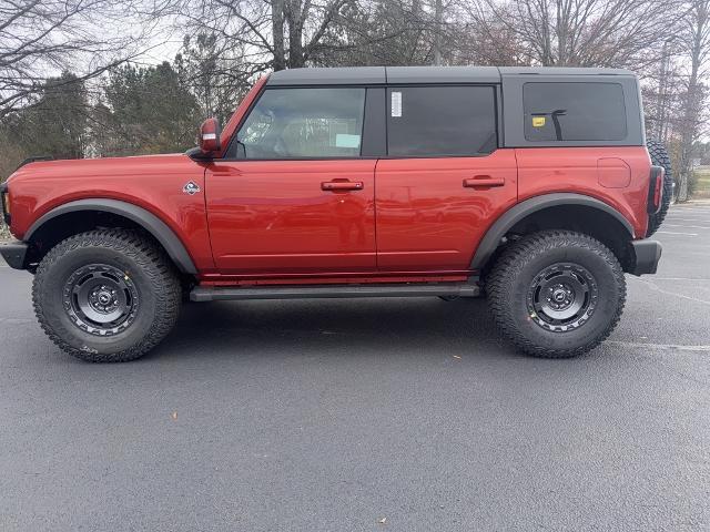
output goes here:
[{"label": "red painted panel of the front door, below its window", "polygon": [[[206,204],[220,272],[373,272],[375,163],[235,161],[207,166]],[[327,182],[358,191],[323,191]],[[317,266],[316,266],[317,265]]]}]

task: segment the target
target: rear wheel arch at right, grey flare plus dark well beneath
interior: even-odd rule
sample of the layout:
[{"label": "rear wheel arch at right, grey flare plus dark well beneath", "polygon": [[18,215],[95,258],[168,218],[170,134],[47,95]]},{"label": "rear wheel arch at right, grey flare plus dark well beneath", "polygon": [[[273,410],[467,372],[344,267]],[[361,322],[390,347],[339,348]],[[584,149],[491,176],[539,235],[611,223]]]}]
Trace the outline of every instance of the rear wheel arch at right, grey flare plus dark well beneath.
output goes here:
[{"label": "rear wheel arch at right, grey flare plus dark well beneath", "polygon": [[[571,213],[576,216],[570,216]],[[486,268],[506,235],[536,224],[542,224],[539,228],[581,229],[599,238],[617,255],[625,270],[630,267],[630,260],[635,260],[633,256],[628,256],[629,243],[635,237],[633,227],[621,213],[596,197],[552,193],[525,200],[496,219],[480,241],[470,268]],[[605,233],[605,228],[615,231]]]}]

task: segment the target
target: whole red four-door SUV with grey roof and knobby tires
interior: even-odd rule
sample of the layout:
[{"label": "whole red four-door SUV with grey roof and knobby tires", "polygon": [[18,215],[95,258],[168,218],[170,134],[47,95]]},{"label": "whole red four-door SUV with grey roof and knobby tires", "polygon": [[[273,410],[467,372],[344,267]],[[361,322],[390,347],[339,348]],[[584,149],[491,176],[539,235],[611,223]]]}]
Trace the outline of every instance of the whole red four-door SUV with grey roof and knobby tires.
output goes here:
[{"label": "whole red four-door SUV with grey roof and knobby tires", "polygon": [[183,299],[476,297],[528,354],[613,329],[656,272],[665,172],[631,72],[300,69],[186,154],[42,161],[2,185],[38,319],[91,361],[145,354]]}]

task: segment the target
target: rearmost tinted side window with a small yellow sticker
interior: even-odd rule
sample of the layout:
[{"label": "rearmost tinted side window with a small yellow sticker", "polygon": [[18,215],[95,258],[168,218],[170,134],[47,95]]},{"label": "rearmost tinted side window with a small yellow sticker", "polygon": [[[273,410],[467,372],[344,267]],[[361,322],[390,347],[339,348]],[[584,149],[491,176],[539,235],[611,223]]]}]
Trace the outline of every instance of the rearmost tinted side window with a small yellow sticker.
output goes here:
[{"label": "rearmost tinted side window with a small yellow sticker", "polygon": [[621,141],[627,136],[619,83],[526,83],[528,141]]}]

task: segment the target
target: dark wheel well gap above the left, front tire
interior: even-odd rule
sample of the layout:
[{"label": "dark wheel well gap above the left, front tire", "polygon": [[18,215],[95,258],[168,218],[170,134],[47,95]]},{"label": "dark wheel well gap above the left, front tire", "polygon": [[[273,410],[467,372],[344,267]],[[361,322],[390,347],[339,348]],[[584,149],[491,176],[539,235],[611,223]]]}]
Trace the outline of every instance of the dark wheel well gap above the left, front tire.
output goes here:
[{"label": "dark wheel well gap above the left, front tire", "polygon": [[[142,225],[125,216],[100,209],[71,211],[54,216],[38,227],[28,241],[30,245],[26,259],[26,264],[29,265],[28,269],[33,270],[44,255],[63,239],[98,228],[125,228],[140,233],[153,242],[156,247],[163,249],[165,257],[168,257],[168,259],[173,263],[173,266],[175,266],[175,269],[179,270],[165,247],[150,231],[146,231]],[[189,275],[183,275],[183,277],[185,282],[192,280],[192,277]]]}]

